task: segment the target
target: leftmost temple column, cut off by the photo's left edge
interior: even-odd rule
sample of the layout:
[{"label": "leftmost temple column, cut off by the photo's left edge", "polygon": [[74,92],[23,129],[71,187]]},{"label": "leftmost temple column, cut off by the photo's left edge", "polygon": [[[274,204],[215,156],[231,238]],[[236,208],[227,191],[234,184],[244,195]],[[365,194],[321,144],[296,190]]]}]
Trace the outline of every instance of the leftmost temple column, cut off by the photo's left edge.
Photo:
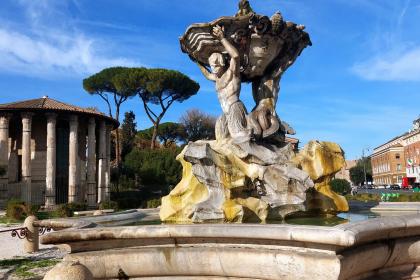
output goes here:
[{"label": "leftmost temple column, cut off by the photo's left edge", "polygon": [[6,201],[7,184],[9,183],[9,120],[10,114],[0,116],[0,167],[4,174],[0,176],[0,202]]}]

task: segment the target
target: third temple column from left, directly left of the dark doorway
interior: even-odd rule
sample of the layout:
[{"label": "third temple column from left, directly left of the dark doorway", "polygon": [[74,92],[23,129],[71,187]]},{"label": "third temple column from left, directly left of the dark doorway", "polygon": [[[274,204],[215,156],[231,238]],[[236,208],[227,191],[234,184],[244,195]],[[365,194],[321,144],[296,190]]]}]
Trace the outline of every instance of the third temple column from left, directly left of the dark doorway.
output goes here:
[{"label": "third temple column from left, directly left of the dark doorway", "polygon": [[55,205],[55,175],[56,175],[56,124],[57,114],[47,114],[47,176],[45,179],[45,206]]}]

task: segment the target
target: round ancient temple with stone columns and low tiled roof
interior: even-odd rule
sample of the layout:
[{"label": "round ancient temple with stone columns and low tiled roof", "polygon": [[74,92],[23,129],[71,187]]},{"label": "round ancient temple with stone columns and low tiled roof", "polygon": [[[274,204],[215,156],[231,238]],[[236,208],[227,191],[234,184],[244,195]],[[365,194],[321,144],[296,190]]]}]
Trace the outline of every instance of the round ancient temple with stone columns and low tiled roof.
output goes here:
[{"label": "round ancient temple with stone columns and low tiled roof", "polygon": [[0,205],[109,200],[111,130],[102,113],[48,97],[0,105]]}]

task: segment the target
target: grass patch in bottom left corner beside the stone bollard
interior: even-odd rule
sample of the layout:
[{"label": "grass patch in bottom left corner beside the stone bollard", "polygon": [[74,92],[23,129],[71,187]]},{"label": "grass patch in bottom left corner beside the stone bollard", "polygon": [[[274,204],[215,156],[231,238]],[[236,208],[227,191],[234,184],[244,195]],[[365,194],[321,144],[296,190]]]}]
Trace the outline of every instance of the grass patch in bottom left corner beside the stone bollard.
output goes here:
[{"label": "grass patch in bottom left corner beside the stone bollard", "polygon": [[12,275],[15,275],[19,278],[27,279],[40,277],[43,275],[37,275],[34,273],[33,269],[36,268],[48,268],[56,265],[61,260],[57,259],[44,259],[44,260],[34,260],[30,258],[19,258],[19,259],[9,259],[1,260],[1,268],[12,268]]}]

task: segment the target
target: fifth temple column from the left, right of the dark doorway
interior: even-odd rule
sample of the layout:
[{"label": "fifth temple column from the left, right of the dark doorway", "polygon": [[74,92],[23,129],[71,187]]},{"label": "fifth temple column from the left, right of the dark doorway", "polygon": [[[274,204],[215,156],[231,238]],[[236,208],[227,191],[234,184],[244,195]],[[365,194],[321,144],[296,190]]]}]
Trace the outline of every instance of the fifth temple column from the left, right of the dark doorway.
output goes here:
[{"label": "fifth temple column from the left, right of the dark doorway", "polygon": [[88,207],[96,207],[96,135],[95,118],[89,119],[87,158],[87,200]]}]

